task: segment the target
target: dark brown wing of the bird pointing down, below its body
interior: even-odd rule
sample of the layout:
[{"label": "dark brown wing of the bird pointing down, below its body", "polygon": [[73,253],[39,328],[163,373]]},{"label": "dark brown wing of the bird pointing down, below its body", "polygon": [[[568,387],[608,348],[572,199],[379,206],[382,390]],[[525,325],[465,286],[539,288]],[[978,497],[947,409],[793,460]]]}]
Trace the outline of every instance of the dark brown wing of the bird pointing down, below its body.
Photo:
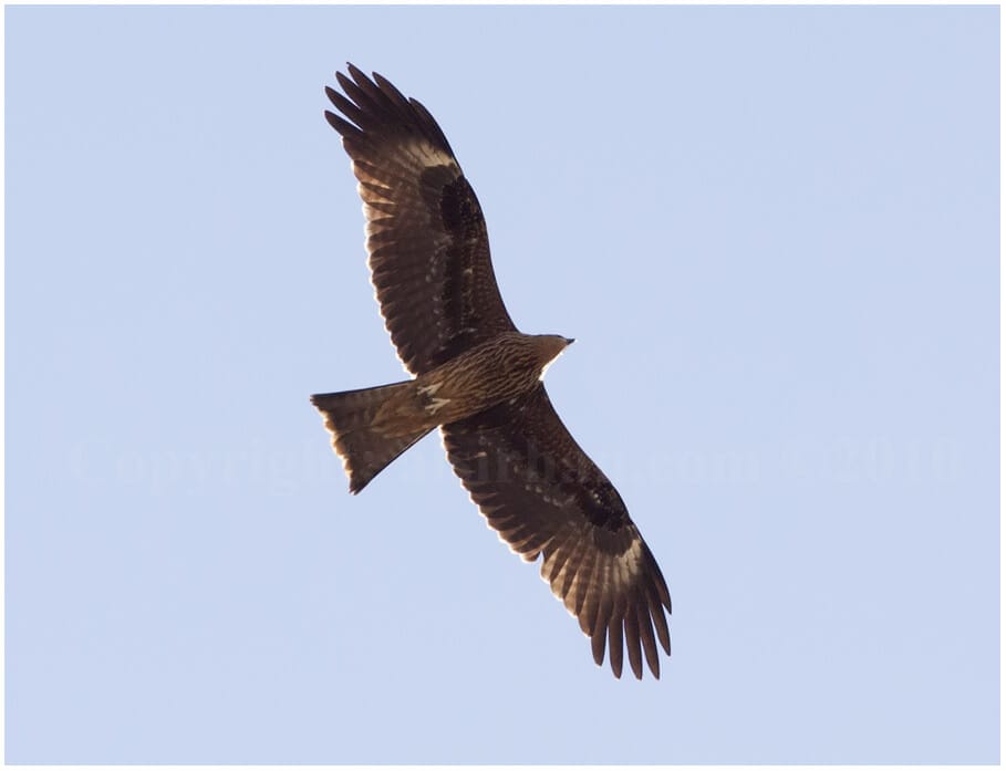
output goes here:
[{"label": "dark brown wing of the bird pointing down, below its body", "polygon": [[[640,646],[660,677],[656,640],[670,655],[667,584],[621,496],[587,457],[539,385],[530,394],[442,427],[447,457],[471,500],[510,548],[531,562],[591,638],[605,643],[615,677],[623,636],[637,678]],[[654,638],[654,629],[656,638]]]}]

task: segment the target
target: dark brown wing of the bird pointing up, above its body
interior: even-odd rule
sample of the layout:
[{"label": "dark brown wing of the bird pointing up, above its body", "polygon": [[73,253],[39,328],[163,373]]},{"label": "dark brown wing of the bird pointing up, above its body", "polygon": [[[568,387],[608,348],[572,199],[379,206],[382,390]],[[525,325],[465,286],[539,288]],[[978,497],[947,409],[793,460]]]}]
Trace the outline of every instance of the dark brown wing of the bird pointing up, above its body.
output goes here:
[{"label": "dark brown wing of the bird pointing up, above its body", "polygon": [[325,88],[325,112],[353,162],[381,313],[398,357],[422,374],[515,329],[492,263],[481,207],[426,107],[352,64]]}]

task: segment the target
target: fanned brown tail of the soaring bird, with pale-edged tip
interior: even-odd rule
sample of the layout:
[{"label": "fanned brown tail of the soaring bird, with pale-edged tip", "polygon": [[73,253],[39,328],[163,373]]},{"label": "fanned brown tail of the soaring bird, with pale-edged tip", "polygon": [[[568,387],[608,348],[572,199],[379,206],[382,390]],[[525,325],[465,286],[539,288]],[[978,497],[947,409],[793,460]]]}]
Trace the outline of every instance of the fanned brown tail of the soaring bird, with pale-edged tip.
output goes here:
[{"label": "fanned brown tail of the soaring bird, with pale-edged tip", "polygon": [[332,434],[332,446],[342,458],[350,492],[360,492],[434,428],[422,413],[408,414],[414,388],[412,381],[405,381],[311,397],[311,404],[324,416],[325,428]]}]

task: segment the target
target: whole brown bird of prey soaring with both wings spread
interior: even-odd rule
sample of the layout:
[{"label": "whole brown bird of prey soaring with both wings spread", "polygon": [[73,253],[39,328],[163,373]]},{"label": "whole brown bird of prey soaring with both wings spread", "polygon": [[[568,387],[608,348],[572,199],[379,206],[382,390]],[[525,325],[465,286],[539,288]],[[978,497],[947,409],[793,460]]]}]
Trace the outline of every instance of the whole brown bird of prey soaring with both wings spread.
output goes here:
[{"label": "whole brown bird of prey soaring with both wings spread", "polygon": [[572,340],[518,332],[489,261],[486,222],[444,132],[387,80],[352,64],[325,88],[366,218],[377,302],[412,379],[315,394],[350,491],[434,428],[489,525],[637,679],[671,654],[671,596],[621,496],[552,408],[541,378]]}]

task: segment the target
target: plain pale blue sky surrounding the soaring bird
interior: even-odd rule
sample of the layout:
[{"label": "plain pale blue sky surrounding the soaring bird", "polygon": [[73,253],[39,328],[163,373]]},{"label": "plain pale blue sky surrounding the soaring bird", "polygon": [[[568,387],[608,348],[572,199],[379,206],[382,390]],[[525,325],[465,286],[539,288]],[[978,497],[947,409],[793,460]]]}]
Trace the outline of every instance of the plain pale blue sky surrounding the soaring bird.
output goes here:
[{"label": "plain pale blue sky surrounding the soaring bird", "polygon": [[[998,760],[996,8],[8,8],[9,762]],[[322,87],[423,101],[674,601],[616,681],[428,438]]]}]

